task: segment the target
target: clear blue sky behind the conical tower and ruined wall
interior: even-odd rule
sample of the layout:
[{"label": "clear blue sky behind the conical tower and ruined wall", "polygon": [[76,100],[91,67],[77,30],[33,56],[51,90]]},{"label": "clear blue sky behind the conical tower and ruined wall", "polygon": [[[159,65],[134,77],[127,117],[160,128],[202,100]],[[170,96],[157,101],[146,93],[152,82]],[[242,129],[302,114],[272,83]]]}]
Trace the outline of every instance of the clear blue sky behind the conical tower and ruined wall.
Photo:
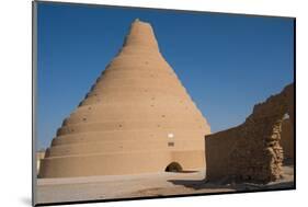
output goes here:
[{"label": "clear blue sky behind the conical tower and ruined wall", "polygon": [[293,20],[38,3],[37,145],[47,147],[139,18],[212,131],[293,82]]}]

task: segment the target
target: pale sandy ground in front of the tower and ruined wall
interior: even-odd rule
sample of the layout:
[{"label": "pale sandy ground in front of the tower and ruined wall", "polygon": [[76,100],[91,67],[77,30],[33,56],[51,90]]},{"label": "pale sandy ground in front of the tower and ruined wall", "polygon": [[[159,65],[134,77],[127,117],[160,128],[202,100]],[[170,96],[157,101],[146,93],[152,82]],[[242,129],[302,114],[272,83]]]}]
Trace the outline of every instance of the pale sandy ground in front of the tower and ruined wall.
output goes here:
[{"label": "pale sandy ground in front of the tower and ruined wall", "polygon": [[204,171],[151,173],[73,179],[38,179],[37,203],[132,198],[224,192],[294,188],[293,166],[284,166],[282,180],[266,185],[219,184],[205,181]]}]

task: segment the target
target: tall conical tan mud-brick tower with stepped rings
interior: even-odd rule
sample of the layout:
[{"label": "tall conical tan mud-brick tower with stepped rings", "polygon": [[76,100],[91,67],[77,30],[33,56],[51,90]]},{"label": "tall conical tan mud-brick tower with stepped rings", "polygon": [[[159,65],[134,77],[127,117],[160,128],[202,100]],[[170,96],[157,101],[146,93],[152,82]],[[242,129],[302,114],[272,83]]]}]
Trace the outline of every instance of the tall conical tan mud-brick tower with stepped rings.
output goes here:
[{"label": "tall conical tan mud-brick tower with stepped rings", "polygon": [[58,129],[39,176],[202,169],[209,133],[151,25],[136,20],[119,54]]}]

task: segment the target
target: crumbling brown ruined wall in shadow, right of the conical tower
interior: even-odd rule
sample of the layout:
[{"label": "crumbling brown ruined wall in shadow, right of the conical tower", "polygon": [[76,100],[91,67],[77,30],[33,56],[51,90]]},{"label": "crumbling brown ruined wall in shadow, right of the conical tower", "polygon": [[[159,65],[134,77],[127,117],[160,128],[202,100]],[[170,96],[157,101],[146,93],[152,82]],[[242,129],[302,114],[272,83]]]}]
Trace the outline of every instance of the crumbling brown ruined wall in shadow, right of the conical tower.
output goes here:
[{"label": "crumbling brown ruined wall in shadow, right of the conical tower", "polygon": [[282,122],[285,113],[294,120],[293,91],[293,84],[287,85],[280,94],[256,104],[242,125],[205,137],[207,180],[266,183],[281,177]]}]

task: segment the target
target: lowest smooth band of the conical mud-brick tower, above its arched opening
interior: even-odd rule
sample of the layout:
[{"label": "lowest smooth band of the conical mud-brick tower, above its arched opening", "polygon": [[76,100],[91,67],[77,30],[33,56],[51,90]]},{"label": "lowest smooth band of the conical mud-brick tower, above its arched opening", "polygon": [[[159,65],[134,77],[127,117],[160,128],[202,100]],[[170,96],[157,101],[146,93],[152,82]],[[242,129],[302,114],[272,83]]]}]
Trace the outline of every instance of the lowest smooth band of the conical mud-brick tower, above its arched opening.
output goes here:
[{"label": "lowest smooth band of the conical mud-brick tower, above its arched opening", "polygon": [[[44,168],[42,168],[39,176],[66,177],[163,172],[171,162],[179,162],[183,169],[190,170],[204,164],[204,159],[199,159],[203,156],[204,151],[202,150],[181,150],[170,153],[169,150],[159,149],[89,154],[87,157],[54,157],[43,161]],[[68,163],[69,168],[67,168]],[[81,163],[82,168],[80,168]]]}]

